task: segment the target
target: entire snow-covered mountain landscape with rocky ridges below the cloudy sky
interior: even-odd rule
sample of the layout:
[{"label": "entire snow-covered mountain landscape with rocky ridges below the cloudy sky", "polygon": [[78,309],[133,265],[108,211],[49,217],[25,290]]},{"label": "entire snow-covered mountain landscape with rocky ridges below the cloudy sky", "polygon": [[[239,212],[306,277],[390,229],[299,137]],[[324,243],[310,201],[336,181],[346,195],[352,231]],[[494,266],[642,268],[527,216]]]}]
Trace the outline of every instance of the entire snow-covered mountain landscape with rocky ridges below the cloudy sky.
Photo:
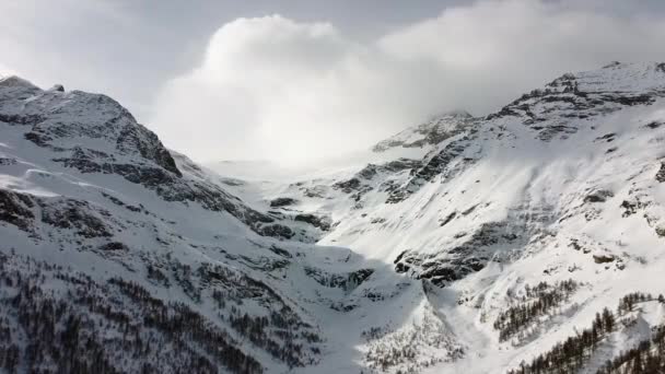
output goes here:
[{"label": "entire snow-covered mountain landscape with rocky ridges below the cloudy sky", "polygon": [[4,79],[0,364],[662,371],[663,131],[665,63],[612,63],[242,180],[107,96]]}]

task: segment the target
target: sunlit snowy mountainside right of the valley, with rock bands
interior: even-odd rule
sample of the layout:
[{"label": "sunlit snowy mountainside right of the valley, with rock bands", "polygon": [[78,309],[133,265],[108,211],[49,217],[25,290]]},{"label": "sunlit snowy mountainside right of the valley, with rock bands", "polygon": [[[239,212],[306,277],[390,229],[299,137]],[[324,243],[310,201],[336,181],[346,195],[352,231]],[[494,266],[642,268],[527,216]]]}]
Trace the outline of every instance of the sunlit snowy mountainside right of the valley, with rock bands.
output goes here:
[{"label": "sunlit snowy mountainside right of the valley, with rock bands", "polygon": [[[409,323],[368,326],[389,332],[368,340],[365,360],[381,352],[383,371],[429,366],[444,353],[430,355],[420,344],[435,344],[416,331],[436,320],[448,352],[464,354],[453,349],[446,360],[454,362],[434,372],[501,373],[591,327],[595,313],[615,309],[625,294],[665,292],[664,96],[663,63],[565,74],[497,114],[460,121],[422,159],[262,192],[288,209],[330,217],[319,244],[423,281],[425,299]],[[527,295],[528,287],[546,282],[551,297],[569,280],[572,291],[533,318],[511,328],[497,323],[534,305],[540,294]],[[595,372],[645,334],[608,336],[603,349],[585,351],[582,369],[569,371]],[[408,359],[395,353],[415,341]]]}]

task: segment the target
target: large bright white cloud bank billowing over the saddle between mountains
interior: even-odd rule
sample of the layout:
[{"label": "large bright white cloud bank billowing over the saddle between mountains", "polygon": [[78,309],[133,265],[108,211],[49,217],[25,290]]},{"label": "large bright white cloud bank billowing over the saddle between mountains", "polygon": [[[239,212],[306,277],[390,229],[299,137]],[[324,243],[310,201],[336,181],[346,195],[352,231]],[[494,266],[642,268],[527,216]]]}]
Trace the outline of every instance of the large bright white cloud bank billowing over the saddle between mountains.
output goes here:
[{"label": "large bright white cloud bank billowing over the saddle between mountains", "polygon": [[329,23],[238,19],[161,90],[150,124],[198,160],[302,163],[447,109],[487,114],[567,71],[665,60],[663,21],[568,1],[480,1],[359,42]]}]

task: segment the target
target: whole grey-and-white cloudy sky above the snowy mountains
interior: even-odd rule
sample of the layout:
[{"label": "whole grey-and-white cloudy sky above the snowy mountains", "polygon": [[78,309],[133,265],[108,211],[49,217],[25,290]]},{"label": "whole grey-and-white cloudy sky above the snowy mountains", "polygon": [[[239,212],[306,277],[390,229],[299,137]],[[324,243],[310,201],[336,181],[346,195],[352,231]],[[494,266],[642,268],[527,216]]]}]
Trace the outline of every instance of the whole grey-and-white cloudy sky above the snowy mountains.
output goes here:
[{"label": "whole grey-and-white cloudy sky above the snowy mountains", "polygon": [[366,149],[609,61],[665,61],[662,0],[1,0],[0,74],[105,93],[196,161]]}]

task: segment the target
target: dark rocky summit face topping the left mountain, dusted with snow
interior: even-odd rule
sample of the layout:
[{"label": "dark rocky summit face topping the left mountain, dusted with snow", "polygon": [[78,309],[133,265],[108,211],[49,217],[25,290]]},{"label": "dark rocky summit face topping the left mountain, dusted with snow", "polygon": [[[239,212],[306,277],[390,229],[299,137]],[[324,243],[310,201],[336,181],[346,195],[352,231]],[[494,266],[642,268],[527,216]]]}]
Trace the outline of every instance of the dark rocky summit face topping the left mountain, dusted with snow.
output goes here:
[{"label": "dark rocky summit face topping the left mountain, dusted with snow", "polygon": [[[19,79],[3,80],[1,84],[5,94],[0,97],[0,120],[30,126],[25,138],[36,145],[56,152],[70,150],[94,153],[94,150],[72,147],[68,141],[72,138],[103,140],[115,148],[113,155],[102,157],[105,161],[113,161],[108,157],[120,155],[138,156],[139,162],[154,163],[182,176],[158,136],[139,125],[113,98],[80,91],[62,94],[61,86],[42,91]],[[80,154],[72,157],[80,159]]]}]

